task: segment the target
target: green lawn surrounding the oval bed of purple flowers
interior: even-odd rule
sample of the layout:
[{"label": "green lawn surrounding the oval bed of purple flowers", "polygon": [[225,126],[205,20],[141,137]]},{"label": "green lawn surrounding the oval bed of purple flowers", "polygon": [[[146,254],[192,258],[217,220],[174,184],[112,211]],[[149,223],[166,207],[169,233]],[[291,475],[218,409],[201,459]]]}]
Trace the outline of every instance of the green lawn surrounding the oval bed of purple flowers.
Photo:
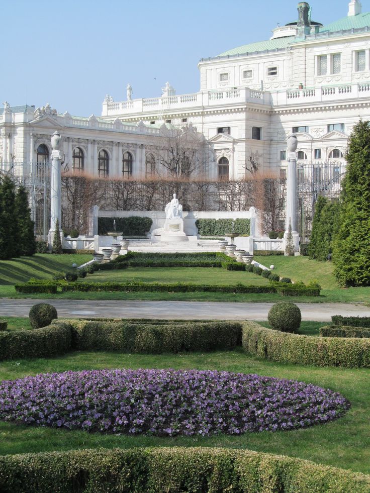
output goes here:
[{"label": "green lawn surrounding the oval bed of purple flowers", "polygon": [[76,352],[33,361],[0,363],[0,378],[15,379],[41,372],[99,368],[215,369],[279,378],[297,379],[341,392],[351,409],[341,419],[324,425],[276,433],[221,435],[211,438],[115,436],[0,423],[0,454],[68,450],[95,447],[209,446],[251,450],[301,457],[353,471],[370,473],[370,370],[299,367],[258,360],[241,349],[229,352],[177,355],[138,355]]}]

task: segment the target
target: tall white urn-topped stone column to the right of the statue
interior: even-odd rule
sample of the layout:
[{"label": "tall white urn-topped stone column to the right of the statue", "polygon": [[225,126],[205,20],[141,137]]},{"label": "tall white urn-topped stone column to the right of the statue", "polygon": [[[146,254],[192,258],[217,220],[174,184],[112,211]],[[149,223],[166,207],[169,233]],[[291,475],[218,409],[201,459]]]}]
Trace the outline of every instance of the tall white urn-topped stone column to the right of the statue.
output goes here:
[{"label": "tall white urn-topped stone column to the right of the statue", "polygon": [[289,223],[292,227],[294,251],[299,252],[299,235],[297,231],[297,156],[298,139],[293,134],[288,137],[288,177],[287,177],[287,209],[284,239],[287,241]]}]

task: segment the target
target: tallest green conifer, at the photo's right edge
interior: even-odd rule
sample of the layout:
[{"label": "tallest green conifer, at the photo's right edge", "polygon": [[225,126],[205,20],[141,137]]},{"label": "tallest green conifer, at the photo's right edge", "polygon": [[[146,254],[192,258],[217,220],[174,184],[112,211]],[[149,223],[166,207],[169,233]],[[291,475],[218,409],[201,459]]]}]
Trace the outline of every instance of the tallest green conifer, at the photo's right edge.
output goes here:
[{"label": "tallest green conifer, at the photo's right edge", "polygon": [[334,274],[343,286],[370,285],[370,128],[354,126],[342,181],[339,228],[333,242]]}]

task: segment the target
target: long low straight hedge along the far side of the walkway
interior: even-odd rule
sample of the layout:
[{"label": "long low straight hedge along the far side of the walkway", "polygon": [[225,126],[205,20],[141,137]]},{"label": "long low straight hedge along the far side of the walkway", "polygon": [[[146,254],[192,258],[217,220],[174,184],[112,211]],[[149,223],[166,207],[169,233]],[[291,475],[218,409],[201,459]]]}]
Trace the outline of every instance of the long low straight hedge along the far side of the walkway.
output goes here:
[{"label": "long low straight hedge along the far side of the walkway", "polygon": [[[210,284],[194,284],[192,282],[178,282],[173,284],[159,282],[69,282],[61,285],[62,292],[234,292],[234,293],[273,293],[274,286],[222,286]],[[32,291],[31,291],[32,292]]]}]

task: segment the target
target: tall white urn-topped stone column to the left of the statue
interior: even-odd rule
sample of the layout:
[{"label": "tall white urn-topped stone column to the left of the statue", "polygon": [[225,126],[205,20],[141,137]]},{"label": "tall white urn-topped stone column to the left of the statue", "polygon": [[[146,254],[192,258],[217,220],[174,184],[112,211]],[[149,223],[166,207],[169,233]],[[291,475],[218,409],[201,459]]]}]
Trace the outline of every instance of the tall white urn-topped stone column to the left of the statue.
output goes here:
[{"label": "tall white urn-topped stone column to the left of the statue", "polygon": [[49,248],[52,247],[56,231],[56,221],[59,221],[59,234],[61,233],[62,221],[62,186],[61,186],[61,147],[62,138],[59,132],[54,132],[51,137],[53,152],[51,155],[51,183],[50,183],[50,231]]}]

